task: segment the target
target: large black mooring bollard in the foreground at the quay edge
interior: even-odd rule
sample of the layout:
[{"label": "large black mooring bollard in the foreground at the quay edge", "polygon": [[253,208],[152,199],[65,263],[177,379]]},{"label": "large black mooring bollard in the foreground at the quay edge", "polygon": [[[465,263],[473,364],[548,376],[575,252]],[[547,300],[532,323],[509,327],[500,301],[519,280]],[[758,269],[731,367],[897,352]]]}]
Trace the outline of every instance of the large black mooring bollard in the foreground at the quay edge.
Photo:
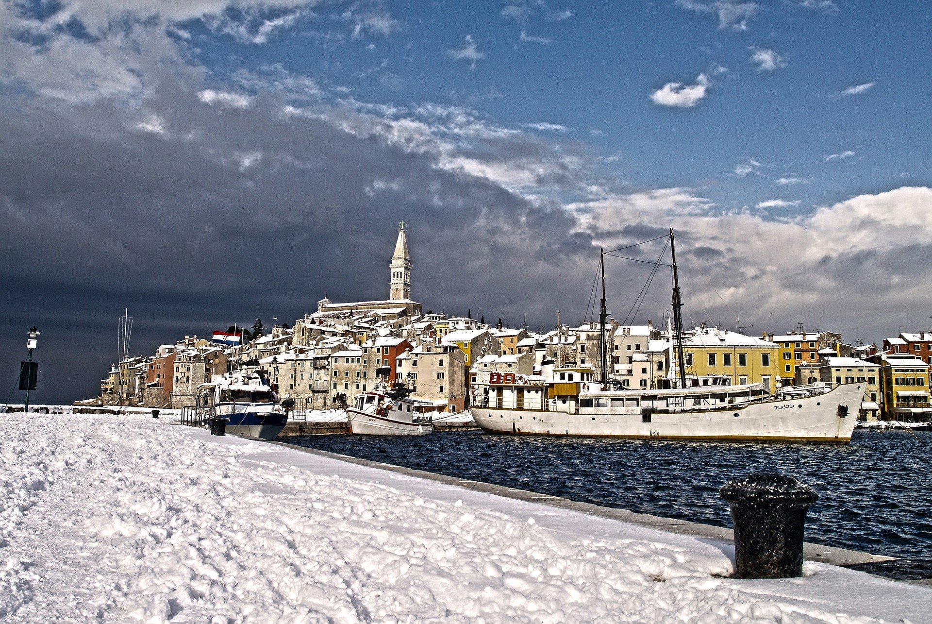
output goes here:
[{"label": "large black mooring bollard in the foreground at the quay edge", "polygon": [[816,491],[786,475],[756,473],[719,493],[732,507],[733,577],[802,576],[802,530]]}]

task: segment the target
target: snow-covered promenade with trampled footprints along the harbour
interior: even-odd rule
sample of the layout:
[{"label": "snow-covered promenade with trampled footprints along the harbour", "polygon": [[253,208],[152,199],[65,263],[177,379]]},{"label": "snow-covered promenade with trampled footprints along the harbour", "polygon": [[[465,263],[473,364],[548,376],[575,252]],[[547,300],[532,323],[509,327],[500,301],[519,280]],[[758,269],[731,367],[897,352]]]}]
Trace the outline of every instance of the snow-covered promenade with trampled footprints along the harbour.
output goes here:
[{"label": "snow-covered promenade with trampled footprints along the harbour", "polygon": [[0,620],[932,622],[932,590],[144,416],[0,414]]}]

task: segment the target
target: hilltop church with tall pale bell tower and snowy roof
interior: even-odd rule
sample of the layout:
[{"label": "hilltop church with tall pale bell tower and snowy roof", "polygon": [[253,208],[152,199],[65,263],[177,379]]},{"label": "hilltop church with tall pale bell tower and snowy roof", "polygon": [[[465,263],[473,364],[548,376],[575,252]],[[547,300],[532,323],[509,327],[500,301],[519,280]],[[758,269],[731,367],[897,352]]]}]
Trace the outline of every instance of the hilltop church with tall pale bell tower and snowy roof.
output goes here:
[{"label": "hilltop church with tall pale bell tower and snowy roof", "polygon": [[398,240],[389,265],[389,298],[378,301],[334,303],[328,298],[317,302],[312,318],[346,317],[376,313],[392,321],[402,316],[418,316],[421,305],[411,300],[411,257],[408,254],[407,232],[404,221],[398,224]]}]

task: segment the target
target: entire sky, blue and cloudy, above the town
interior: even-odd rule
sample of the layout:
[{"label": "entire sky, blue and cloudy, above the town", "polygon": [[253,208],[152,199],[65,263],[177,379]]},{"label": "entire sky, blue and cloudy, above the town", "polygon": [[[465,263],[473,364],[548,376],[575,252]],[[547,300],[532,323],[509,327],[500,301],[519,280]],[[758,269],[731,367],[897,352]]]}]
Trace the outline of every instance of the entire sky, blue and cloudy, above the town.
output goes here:
[{"label": "entire sky, blue and cloudy, above the town", "polygon": [[30,326],[59,402],[126,309],[151,354],[387,298],[403,219],[425,310],[575,325],[673,228],[687,324],[928,329],[930,42],[907,2],[0,0],[0,381]]}]

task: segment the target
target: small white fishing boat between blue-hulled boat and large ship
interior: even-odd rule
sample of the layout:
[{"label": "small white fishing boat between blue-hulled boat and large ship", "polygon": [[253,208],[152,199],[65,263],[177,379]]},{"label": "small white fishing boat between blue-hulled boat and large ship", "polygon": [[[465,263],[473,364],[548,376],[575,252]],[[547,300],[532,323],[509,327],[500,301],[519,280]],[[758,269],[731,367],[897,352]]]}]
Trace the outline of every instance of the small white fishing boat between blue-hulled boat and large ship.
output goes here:
[{"label": "small white fishing boat between blue-hulled boat and large ship", "polygon": [[425,436],[433,433],[430,416],[408,398],[411,390],[395,384],[391,390],[377,386],[356,397],[347,408],[349,432],[362,436]]}]

